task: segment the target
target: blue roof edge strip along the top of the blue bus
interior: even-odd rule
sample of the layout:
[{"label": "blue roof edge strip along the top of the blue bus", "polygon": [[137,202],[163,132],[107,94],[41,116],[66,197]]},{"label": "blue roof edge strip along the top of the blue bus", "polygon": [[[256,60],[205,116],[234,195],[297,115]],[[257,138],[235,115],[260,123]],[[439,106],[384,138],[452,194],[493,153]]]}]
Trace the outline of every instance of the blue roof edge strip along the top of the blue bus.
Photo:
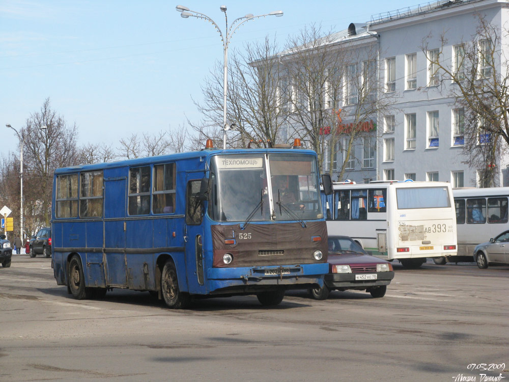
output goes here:
[{"label": "blue roof edge strip along the top of the blue bus", "polygon": [[55,174],[64,174],[64,173],[73,173],[78,171],[93,171],[93,170],[102,170],[102,169],[110,169],[124,166],[142,166],[142,165],[150,165],[151,163],[160,163],[160,162],[168,162],[168,161],[176,161],[182,159],[190,159],[190,158],[199,158],[199,157],[211,157],[217,154],[225,154],[225,155],[233,155],[233,154],[265,154],[265,153],[291,153],[291,155],[295,154],[311,154],[315,157],[317,156],[316,152],[313,150],[306,149],[229,149],[229,150],[201,150],[201,151],[190,151],[185,153],[177,153],[177,154],[167,154],[167,155],[159,155],[159,156],[148,156],[144,158],[135,158],[135,159],[124,159],[117,160],[113,162],[105,162],[105,163],[94,163],[93,165],[78,165],[71,167],[62,167],[55,170]]}]

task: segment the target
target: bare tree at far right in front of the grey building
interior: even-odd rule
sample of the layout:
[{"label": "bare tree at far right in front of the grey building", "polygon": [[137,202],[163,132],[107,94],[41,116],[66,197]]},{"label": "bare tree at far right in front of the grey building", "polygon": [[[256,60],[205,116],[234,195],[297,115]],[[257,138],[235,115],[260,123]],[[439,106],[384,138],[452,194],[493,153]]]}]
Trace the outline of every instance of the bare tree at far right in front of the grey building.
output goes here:
[{"label": "bare tree at far right in front of the grey building", "polygon": [[428,36],[422,44],[434,69],[432,77],[456,99],[458,117],[455,133],[464,140],[463,163],[480,169],[479,185],[495,186],[497,158],[509,149],[509,70],[501,36],[508,31],[492,25],[478,14],[476,34],[453,48],[453,57],[445,52],[448,41],[440,36],[440,48],[429,50]]}]

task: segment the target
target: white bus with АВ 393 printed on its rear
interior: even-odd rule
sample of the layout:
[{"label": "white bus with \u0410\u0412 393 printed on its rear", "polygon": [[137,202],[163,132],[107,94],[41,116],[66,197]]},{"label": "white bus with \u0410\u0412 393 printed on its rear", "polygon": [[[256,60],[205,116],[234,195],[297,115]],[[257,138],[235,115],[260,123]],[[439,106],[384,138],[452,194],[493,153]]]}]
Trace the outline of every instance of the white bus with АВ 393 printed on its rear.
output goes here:
[{"label": "white bus with \u0410\u0412 393 printed on its rear", "polygon": [[449,183],[333,183],[322,193],[329,236],[346,235],[366,251],[403,266],[457,253],[456,215]]}]

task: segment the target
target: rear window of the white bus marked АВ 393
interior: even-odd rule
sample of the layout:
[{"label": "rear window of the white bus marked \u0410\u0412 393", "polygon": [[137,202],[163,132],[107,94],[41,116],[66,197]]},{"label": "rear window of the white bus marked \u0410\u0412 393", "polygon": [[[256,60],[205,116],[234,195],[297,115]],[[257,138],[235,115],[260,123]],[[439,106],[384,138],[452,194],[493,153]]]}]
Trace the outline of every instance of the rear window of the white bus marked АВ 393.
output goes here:
[{"label": "rear window of the white bus marked \u0410\u0412 393", "polygon": [[398,209],[450,207],[445,187],[408,187],[396,190]]}]

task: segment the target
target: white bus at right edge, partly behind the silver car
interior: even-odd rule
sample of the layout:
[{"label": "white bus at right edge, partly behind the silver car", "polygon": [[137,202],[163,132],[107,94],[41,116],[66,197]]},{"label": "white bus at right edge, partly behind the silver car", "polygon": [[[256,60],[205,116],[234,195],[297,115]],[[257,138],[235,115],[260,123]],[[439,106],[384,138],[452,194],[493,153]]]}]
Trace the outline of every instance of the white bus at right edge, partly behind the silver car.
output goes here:
[{"label": "white bus at right edge, partly behind the silver car", "polygon": [[474,261],[475,245],[509,230],[509,187],[455,188],[453,195],[458,230],[458,257],[446,257],[446,260]]}]

